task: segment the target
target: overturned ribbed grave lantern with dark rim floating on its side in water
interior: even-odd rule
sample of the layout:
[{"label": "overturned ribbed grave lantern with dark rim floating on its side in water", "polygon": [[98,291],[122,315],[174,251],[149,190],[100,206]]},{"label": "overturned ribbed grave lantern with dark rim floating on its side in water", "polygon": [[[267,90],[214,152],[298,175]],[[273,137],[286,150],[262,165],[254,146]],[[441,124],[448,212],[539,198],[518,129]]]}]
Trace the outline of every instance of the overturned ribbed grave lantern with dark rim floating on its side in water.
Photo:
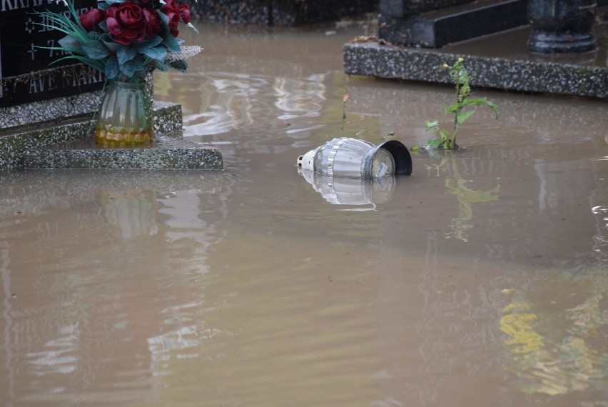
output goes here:
[{"label": "overturned ribbed grave lantern with dark rim floating on its side in water", "polygon": [[300,156],[298,167],[330,177],[377,179],[412,174],[412,157],[397,140],[374,146],[369,141],[341,137]]}]

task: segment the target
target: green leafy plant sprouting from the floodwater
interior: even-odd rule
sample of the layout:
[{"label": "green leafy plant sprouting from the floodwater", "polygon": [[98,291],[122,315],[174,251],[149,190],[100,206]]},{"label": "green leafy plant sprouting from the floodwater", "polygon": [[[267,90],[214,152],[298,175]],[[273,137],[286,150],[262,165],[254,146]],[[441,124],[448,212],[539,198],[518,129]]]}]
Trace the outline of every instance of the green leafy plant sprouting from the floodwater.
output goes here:
[{"label": "green leafy plant sprouting from the floodwater", "polygon": [[[498,119],[498,106],[487,99],[470,99],[471,86],[469,85],[469,74],[465,69],[462,62],[464,59],[459,58],[454,65],[449,66],[443,64],[442,68],[450,71],[450,78],[456,85],[456,103],[450,106],[444,107],[444,110],[448,114],[454,115],[454,124],[452,131],[447,131],[442,128],[439,121],[427,121],[426,129],[432,130],[437,134],[436,139],[429,140],[427,149],[447,149],[456,150],[458,146],[456,144],[456,134],[458,128],[467,119],[475,113],[475,106],[488,106],[494,111],[495,119]],[[467,109],[472,108],[472,109]]]}]

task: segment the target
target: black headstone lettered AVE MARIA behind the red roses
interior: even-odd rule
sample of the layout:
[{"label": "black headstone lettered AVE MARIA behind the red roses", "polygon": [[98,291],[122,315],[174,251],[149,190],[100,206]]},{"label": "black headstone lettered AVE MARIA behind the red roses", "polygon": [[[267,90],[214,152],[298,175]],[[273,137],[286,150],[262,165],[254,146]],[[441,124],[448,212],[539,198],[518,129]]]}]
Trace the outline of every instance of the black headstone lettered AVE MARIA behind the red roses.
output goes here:
[{"label": "black headstone lettered AVE MARIA behind the red roses", "polygon": [[[96,0],[76,0],[78,14],[95,7]],[[58,46],[65,34],[45,23],[36,11],[69,15],[54,0],[0,0],[0,107],[101,89],[103,75],[76,60],[51,62],[65,54],[44,46]],[[49,64],[51,64],[49,66]]]}]

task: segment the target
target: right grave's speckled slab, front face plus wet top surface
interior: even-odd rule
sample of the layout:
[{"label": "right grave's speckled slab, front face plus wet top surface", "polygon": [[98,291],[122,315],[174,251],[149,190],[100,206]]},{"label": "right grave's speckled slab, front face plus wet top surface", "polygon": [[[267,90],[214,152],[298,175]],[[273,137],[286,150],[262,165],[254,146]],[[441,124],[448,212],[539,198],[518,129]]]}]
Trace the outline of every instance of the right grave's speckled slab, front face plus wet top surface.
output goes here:
[{"label": "right grave's speckled slab, front face plus wet top surface", "polygon": [[[451,84],[447,70],[441,66],[462,57],[473,86],[608,100],[605,49],[574,56],[536,56],[525,49],[527,30],[512,30],[437,50],[377,42],[345,44],[344,71]],[[605,47],[606,41],[599,42]]]}]

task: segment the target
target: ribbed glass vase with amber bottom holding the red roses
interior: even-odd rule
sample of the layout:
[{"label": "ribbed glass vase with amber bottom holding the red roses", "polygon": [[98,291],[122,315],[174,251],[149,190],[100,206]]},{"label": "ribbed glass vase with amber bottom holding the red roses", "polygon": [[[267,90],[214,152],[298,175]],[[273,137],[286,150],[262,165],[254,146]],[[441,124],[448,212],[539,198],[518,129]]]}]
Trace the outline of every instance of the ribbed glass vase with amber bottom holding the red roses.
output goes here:
[{"label": "ribbed glass vase with amber bottom holding the red roses", "polygon": [[146,92],[146,81],[108,82],[97,114],[95,139],[105,146],[152,141],[152,101]]}]

